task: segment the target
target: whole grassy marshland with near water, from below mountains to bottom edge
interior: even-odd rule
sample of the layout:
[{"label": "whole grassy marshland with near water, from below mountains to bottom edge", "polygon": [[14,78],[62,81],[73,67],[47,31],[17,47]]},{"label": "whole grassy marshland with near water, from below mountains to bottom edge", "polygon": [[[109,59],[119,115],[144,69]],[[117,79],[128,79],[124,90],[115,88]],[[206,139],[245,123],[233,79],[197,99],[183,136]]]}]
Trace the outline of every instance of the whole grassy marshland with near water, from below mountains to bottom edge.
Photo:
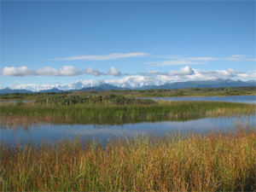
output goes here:
[{"label": "whole grassy marshland with near water, from below mountains to bottom edge", "polygon": [[149,96],[255,101],[255,88],[3,95],[1,190],[255,189],[255,102]]}]

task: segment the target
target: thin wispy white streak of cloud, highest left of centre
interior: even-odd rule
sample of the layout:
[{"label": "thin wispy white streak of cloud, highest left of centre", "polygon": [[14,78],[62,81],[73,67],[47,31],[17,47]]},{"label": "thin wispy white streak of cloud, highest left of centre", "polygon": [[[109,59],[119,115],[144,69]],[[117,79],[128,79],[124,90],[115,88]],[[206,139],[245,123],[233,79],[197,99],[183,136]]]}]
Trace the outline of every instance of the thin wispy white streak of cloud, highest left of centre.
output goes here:
[{"label": "thin wispy white streak of cloud, highest left of centre", "polygon": [[85,61],[105,61],[105,60],[118,60],[121,58],[127,57],[140,57],[140,56],[148,56],[147,53],[137,52],[137,53],[113,53],[108,55],[77,55],[71,56],[67,58],[57,58],[52,60],[85,60]]}]

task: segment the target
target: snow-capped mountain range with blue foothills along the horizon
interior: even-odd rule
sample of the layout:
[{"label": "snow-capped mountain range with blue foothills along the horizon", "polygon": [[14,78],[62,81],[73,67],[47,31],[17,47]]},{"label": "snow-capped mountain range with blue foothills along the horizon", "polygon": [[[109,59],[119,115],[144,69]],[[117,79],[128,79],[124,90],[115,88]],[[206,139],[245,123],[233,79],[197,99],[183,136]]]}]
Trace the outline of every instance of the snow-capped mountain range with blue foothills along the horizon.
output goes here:
[{"label": "snow-capped mountain range with blue foothills along the horizon", "polygon": [[[141,77],[129,77],[127,79],[117,79],[117,80],[78,80],[71,84],[11,84],[1,90],[1,93],[20,92],[20,90],[28,91],[44,91],[44,90],[81,90],[84,88],[91,87],[96,88],[96,86],[103,85],[101,89],[104,90],[104,84],[110,84],[115,87],[124,88],[124,89],[181,89],[181,88],[190,88],[190,87],[238,87],[238,86],[255,86],[256,81],[241,81],[241,80],[231,80],[231,79],[217,79],[217,80],[208,80],[208,81],[186,81],[186,82],[175,82],[172,84],[166,84],[163,81],[151,81],[150,79],[140,79]],[[98,89],[98,88],[97,88]],[[106,88],[107,89],[107,88]],[[114,89],[114,88],[113,88]],[[11,90],[11,91],[10,91]],[[108,90],[108,89],[107,89]]]}]

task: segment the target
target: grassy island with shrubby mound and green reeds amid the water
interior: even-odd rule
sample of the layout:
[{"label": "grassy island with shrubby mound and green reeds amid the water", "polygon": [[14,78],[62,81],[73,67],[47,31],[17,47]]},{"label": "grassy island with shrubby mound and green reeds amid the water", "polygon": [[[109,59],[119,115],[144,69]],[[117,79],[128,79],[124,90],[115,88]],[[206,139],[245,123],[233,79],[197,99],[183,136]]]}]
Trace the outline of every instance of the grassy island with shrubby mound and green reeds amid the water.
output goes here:
[{"label": "grassy island with shrubby mound and green reeds amid the water", "polygon": [[[35,102],[1,103],[1,124],[17,119],[87,119],[92,121],[177,119],[251,115],[255,104],[232,102],[172,102],[125,96],[55,96]],[[19,121],[20,122],[20,121]]]}]

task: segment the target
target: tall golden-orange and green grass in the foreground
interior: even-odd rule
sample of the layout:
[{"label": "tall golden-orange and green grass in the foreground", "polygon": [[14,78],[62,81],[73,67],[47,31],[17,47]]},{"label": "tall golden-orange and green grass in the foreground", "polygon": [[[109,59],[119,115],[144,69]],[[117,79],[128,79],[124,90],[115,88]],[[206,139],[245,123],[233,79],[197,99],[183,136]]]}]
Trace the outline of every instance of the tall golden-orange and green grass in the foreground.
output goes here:
[{"label": "tall golden-orange and green grass in the foreground", "polygon": [[3,191],[253,191],[253,127],[97,141],[1,143]]}]

